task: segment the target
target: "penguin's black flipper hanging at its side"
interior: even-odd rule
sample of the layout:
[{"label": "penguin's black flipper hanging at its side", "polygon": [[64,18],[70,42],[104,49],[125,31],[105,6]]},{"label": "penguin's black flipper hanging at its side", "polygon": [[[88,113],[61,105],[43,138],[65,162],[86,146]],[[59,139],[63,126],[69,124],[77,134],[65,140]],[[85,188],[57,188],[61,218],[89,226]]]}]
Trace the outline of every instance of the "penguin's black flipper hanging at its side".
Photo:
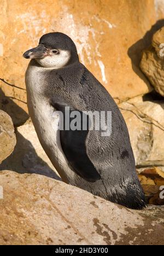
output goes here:
[{"label": "penguin's black flipper hanging at its side", "polygon": [[[65,107],[70,108],[70,113],[77,111],[76,109],[66,106],[65,103],[55,103],[53,104],[55,109],[61,111],[65,117]],[[81,124],[83,112],[78,110],[81,115]],[[64,118],[65,120],[65,118]],[[101,176],[97,172],[95,166],[93,166],[86,150],[86,137],[89,132],[89,117],[86,117],[87,129],[86,130],[60,130],[60,142],[63,153],[65,154],[69,165],[72,167],[73,171],[76,172],[80,177],[86,179],[90,182],[95,182],[101,179]],[[71,124],[72,119],[70,118],[69,124]],[[65,123],[65,122],[64,122]]]}]

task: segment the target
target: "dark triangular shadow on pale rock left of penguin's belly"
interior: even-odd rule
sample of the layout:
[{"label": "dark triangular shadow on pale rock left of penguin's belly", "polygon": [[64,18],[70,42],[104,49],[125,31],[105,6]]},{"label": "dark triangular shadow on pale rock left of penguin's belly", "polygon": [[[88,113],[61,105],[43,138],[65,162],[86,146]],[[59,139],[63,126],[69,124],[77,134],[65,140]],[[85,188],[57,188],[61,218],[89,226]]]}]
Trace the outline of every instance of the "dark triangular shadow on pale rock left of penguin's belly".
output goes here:
[{"label": "dark triangular shadow on pale rock left of penguin's belly", "polygon": [[0,165],[0,171],[11,170],[18,173],[37,173],[61,180],[54,170],[36,153],[32,143],[16,132],[14,152]]}]

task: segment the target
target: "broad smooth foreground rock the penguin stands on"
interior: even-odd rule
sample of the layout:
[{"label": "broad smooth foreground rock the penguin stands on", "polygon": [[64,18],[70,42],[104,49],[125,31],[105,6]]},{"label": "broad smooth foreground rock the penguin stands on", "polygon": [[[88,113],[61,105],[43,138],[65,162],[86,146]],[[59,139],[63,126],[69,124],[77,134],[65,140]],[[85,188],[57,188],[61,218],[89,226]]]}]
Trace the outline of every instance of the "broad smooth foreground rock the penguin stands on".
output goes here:
[{"label": "broad smooth foreground rock the penguin stands on", "polygon": [[1,245],[162,245],[164,207],[128,210],[39,174],[0,172]]}]

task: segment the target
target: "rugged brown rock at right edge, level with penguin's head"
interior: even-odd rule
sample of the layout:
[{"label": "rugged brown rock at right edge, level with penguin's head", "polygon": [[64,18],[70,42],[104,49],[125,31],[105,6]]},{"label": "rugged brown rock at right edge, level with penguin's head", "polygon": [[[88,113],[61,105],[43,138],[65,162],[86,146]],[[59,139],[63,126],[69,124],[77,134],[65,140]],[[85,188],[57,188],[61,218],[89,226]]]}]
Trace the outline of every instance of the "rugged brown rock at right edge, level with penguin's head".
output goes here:
[{"label": "rugged brown rock at right edge, level with penguin's head", "polygon": [[164,96],[164,27],[157,31],[152,46],[143,52],[140,68],[147,76],[154,89]]}]

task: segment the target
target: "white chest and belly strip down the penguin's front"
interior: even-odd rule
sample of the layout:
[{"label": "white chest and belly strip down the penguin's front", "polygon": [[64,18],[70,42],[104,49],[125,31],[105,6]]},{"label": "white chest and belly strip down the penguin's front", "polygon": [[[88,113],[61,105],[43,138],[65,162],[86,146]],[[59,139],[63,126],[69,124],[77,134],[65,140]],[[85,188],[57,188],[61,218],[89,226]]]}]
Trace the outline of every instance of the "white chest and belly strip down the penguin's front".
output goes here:
[{"label": "white chest and belly strip down the penguin's front", "polygon": [[73,175],[68,166],[60,143],[60,131],[57,130],[59,115],[42,94],[42,82],[45,68],[28,66],[26,71],[27,105],[40,143],[63,181]]}]

